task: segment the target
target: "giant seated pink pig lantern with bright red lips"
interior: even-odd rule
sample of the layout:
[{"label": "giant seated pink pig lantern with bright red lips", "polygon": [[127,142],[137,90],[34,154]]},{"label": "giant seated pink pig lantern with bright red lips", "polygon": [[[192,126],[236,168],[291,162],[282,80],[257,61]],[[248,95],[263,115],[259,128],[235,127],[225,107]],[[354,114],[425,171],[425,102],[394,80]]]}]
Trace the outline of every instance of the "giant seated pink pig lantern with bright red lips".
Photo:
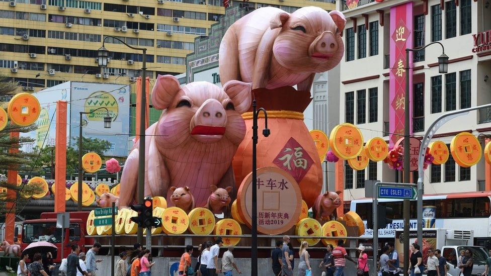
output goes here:
[{"label": "giant seated pink pig lantern with bright red lips", "polygon": [[[200,81],[180,87],[172,75],[159,75],[152,91],[153,107],[166,110],[146,131],[145,196],[166,196],[169,188],[188,186],[196,206],[205,206],[210,185],[233,184],[232,157],[244,135],[240,114],[251,106],[251,84],[230,80],[223,88]],[[121,176],[118,206],[135,201],[138,142]]]}]

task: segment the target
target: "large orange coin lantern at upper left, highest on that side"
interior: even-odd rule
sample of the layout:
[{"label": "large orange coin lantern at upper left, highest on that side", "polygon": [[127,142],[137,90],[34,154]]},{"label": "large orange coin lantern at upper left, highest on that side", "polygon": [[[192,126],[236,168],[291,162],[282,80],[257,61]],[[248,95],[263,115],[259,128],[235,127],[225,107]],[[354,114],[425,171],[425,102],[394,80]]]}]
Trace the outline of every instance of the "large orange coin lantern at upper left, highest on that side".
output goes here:
[{"label": "large orange coin lantern at upper left, highest on that side", "polygon": [[29,93],[19,93],[9,102],[7,113],[10,120],[18,126],[34,124],[41,114],[41,105],[36,97]]}]

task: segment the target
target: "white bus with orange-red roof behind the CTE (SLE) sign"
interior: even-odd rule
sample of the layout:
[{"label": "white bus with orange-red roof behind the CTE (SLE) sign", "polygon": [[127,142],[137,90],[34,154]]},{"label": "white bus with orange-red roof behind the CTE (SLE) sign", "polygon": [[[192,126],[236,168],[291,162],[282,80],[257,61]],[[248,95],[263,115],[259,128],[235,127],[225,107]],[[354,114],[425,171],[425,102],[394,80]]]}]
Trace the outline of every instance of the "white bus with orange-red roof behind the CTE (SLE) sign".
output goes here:
[{"label": "white bus with orange-red roof behind the CTE (SLE) sign", "polygon": [[[378,230],[378,237],[383,241],[393,241],[395,230],[403,229],[402,200],[379,199],[379,205],[392,208],[392,223]],[[356,212],[365,223],[363,238],[372,239],[373,230],[367,228],[367,219],[372,218],[371,198],[357,199],[350,202],[350,211]],[[416,229],[417,201],[410,203],[410,228]],[[433,228],[446,228],[455,230],[474,230],[474,245],[490,247],[491,238],[491,193],[467,192],[452,194],[434,194],[423,196],[423,207],[435,207],[435,223]]]}]

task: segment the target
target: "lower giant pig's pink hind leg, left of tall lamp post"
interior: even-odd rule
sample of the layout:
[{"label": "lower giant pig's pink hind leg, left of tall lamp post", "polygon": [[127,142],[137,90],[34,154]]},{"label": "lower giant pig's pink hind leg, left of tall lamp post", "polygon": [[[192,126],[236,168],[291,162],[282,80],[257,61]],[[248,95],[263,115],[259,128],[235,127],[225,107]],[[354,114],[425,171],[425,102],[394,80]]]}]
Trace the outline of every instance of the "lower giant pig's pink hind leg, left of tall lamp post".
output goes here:
[{"label": "lower giant pig's pink hind leg, left of tall lamp post", "polygon": [[133,204],[136,196],[136,184],[138,182],[138,149],[133,149],[124,164],[121,174],[121,188],[119,207],[128,207]]}]

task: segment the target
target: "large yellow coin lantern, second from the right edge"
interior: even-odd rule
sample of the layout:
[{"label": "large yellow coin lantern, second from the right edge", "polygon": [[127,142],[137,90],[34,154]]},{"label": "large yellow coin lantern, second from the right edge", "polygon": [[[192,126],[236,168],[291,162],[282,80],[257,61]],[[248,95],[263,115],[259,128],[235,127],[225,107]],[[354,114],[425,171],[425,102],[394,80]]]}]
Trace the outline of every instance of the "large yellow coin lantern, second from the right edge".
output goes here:
[{"label": "large yellow coin lantern, second from the right edge", "polygon": [[461,132],[453,137],[450,152],[455,162],[466,168],[477,164],[482,155],[479,140],[468,132]]}]

